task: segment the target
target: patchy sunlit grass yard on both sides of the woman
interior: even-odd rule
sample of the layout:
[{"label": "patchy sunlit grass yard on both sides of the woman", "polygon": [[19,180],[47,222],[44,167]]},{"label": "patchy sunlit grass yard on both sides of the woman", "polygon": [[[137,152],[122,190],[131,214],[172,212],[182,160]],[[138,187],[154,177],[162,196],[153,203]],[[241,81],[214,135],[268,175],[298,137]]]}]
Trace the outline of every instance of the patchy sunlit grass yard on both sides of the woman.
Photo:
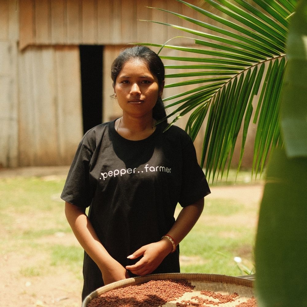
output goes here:
[{"label": "patchy sunlit grass yard on both sides of the woman", "polygon": [[[230,184],[233,176],[218,185]],[[239,182],[246,183],[247,176],[239,173]],[[0,178],[0,255],[19,255],[24,260],[16,263],[21,276],[60,270],[82,279],[83,250],[74,242],[60,200],[64,182],[44,177]],[[242,273],[239,265],[252,269],[255,229],[248,223],[218,222],[251,210],[258,209],[227,198],[206,201],[200,220],[180,244],[181,271],[237,276]],[[235,256],[242,258],[242,264],[233,260]]]}]

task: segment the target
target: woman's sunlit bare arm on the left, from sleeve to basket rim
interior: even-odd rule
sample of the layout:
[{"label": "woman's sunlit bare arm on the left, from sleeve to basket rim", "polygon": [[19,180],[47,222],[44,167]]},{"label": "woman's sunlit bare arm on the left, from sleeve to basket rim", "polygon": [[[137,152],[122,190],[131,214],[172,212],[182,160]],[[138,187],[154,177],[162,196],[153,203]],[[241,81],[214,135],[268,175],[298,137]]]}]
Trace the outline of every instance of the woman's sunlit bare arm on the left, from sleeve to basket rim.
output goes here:
[{"label": "woman's sunlit bare arm on the left, from sleeve to basket rim", "polygon": [[65,202],[65,215],[77,240],[101,270],[105,285],[130,277],[103,247],[83,208]]}]

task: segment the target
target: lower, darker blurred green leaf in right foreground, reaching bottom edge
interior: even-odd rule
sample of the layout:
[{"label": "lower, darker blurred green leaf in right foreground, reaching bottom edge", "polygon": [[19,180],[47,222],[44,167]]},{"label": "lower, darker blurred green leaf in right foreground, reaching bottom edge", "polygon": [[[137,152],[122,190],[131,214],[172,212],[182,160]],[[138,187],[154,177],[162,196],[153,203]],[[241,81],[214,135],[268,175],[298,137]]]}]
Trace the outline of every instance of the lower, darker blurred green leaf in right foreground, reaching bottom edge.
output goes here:
[{"label": "lower, darker blurred green leaf in right foreground, reaching bottom edge", "polygon": [[307,158],[272,153],[255,245],[259,307],[307,306]]}]

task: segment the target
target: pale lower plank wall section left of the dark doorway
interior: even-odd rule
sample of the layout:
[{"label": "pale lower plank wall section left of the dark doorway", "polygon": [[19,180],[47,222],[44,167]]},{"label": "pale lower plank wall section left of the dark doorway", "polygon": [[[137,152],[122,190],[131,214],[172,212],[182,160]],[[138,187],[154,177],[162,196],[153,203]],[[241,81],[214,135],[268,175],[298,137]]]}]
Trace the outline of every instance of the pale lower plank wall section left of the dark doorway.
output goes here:
[{"label": "pale lower plank wall section left of the dark doorway", "polygon": [[19,164],[70,164],[83,134],[79,48],[29,47],[19,72]]}]

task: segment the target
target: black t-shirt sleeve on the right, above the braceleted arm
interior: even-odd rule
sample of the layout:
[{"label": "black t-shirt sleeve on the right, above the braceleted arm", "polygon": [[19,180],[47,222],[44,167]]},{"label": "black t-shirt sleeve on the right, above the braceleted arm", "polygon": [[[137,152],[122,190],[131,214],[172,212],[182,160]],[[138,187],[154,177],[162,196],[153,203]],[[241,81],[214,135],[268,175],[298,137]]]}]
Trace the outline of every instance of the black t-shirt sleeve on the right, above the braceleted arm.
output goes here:
[{"label": "black t-shirt sleeve on the right, above the braceleted arm", "polygon": [[192,139],[189,138],[187,145],[182,149],[182,186],[179,204],[186,207],[210,193],[207,179],[197,162]]}]

